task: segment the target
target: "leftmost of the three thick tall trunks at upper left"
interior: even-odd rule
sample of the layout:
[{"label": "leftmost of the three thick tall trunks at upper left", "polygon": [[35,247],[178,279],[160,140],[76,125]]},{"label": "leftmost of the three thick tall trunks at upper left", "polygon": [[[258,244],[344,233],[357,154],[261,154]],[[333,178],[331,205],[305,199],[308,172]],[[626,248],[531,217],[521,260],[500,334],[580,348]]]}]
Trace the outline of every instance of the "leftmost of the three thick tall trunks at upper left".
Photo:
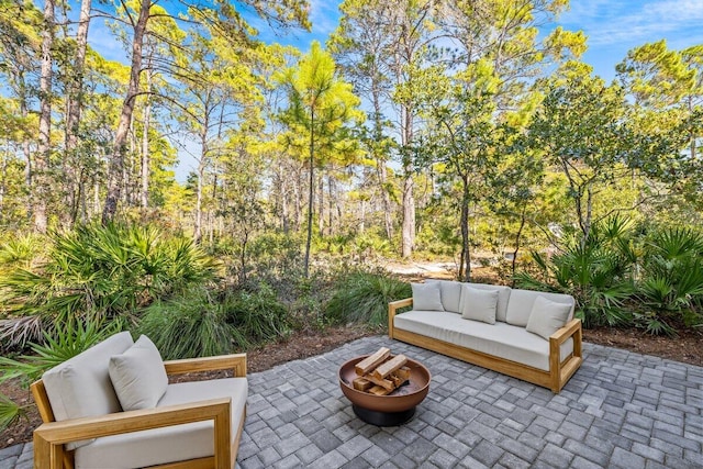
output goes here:
[{"label": "leftmost of the three thick tall trunks at upper left", "polygon": [[34,230],[46,233],[46,213],[49,194],[48,165],[52,152],[52,46],[54,44],[54,0],[44,1],[44,30],[42,31],[42,71],[40,76],[40,139],[34,158]]}]

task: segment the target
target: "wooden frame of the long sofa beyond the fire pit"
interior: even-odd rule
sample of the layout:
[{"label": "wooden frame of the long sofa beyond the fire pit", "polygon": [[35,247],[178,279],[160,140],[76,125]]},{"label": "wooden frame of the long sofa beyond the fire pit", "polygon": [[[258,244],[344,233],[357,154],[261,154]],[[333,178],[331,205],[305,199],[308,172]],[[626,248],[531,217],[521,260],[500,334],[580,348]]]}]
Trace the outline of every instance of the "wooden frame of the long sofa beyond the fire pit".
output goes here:
[{"label": "wooden frame of the long sofa beyond the fire pit", "polygon": [[[481,351],[471,350],[470,348],[459,345],[449,344],[448,342],[427,337],[412,332],[397,330],[393,324],[393,317],[398,310],[413,304],[412,298],[393,301],[388,304],[388,336],[397,340],[416,345],[438,354],[458,358],[479,367],[488,368],[513,378],[522,379],[543,388],[550,389],[555,394],[561,391],[569,378],[579,369],[582,361],[581,342],[582,330],[581,320],[573,319],[563,327],[554,333],[549,337],[549,371],[518,364],[516,361],[506,360],[504,358],[494,357]],[[559,348],[569,337],[573,337],[573,353],[563,361],[559,360]]]}]

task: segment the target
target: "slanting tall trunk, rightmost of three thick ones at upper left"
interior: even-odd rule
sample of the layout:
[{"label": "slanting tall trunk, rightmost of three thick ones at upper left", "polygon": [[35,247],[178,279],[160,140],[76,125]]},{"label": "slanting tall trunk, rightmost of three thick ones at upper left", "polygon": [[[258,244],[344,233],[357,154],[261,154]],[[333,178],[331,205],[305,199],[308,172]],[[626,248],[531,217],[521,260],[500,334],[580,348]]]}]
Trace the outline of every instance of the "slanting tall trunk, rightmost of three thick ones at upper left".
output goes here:
[{"label": "slanting tall trunk, rightmost of three thick ones at upper left", "polygon": [[134,38],[132,40],[132,65],[130,69],[130,85],[127,96],[122,104],[120,123],[114,136],[112,155],[108,165],[108,194],[102,209],[102,223],[107,224],[114,219],[118,211],[118,203],[122,193],[122,170],[124,167],[124,154],[130,122],[134,112],[135,98],[140,90],[140,71],[142,69],[142,46],[146,34],[146,24],[149,19],[150,0],[143,0],[140,9],[140,16],[134,24]]}]

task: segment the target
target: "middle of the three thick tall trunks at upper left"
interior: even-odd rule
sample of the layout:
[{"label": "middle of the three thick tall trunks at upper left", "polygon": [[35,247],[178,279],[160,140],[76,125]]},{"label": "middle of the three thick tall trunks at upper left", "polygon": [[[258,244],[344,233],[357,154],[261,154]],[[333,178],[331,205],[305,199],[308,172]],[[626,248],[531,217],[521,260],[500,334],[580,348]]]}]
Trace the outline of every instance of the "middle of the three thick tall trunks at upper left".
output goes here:
[{"label": "middle of the three thick tall trunks at upper left", "polygon": [[88,26],[90,25],[91,0],[80,2],[80,14],[78,18],[78,30],[76,31],[76,59],[74,60],[74,76],[68,82],[66,93],[66,165],[67,178],[69,180],[68,206],[71,215],[69,223],[76,222],[80,206],[85,205],[83,171],[80,168],[76,148],[78,147],[78,127],[80,125],[80,114],[82,108],[83,72],[86,64],[86,51],[88,45]]}]

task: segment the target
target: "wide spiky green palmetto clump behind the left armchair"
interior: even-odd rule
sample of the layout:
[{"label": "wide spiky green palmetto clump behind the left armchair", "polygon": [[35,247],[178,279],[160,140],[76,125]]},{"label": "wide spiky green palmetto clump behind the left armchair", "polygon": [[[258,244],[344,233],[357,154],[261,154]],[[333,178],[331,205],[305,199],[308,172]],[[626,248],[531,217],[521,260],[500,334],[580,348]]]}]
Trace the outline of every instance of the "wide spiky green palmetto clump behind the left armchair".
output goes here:
[{"label": "wide spiky green palmetto clump behind the left armchair", "polygon": [[[49,242],[42,263],[0,272],[0,292],[14,317],[38,316],[52,325],[78,317],[134,319],[154,299],[187,291],[216,273],[214,260],[190,241],[164,239],[148,226],[87,225],[54,233]],[[14,333],[20,340],[29,336]]]}]

